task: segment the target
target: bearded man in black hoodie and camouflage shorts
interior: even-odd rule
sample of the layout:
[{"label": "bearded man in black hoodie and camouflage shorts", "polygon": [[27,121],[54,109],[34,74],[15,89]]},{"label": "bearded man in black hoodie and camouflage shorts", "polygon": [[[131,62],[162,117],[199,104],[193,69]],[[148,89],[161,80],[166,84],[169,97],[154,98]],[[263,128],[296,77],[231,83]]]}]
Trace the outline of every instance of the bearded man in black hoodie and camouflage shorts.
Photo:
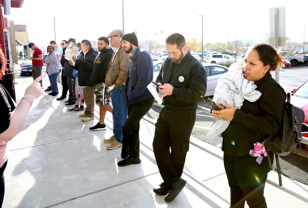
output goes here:
[{"label": "bearded man in black hoodie and camouflage shorts", "polygon": [[108,46],[108,38],[99,37],[97,42],[99,55],[95,58],[91,75],[91,82],[94,84],[95,103],[99,105],[99,122],[89,128],[91,131],[106,129],[106,125],[104,124],[106,112],[109,111],[112,113],[112,107],[110,105],[111,92],[105,85],[108,64],[113,54],[113,50],[108,48]]}]

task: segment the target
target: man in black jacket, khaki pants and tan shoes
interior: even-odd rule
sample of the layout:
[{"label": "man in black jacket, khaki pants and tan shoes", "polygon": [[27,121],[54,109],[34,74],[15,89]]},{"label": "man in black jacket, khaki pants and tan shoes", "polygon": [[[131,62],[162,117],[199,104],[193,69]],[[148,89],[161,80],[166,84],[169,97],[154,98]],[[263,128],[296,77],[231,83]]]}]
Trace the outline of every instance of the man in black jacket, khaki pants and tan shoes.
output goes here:
[{"label": "man in black jacket, khaki pants and tan shoes", "polygon": [[91,42],[88,40],[81,41],[81,50],[79,59],[72,57],[75,66],[70,60],[70,65],[78,71],[78,84],[83,87],[83,97],[86,104],[84,113],[79,114],[82,121],[94,120],[94,84],[91,82],[94,61],[98,55],[97,51],[92,48]]}]

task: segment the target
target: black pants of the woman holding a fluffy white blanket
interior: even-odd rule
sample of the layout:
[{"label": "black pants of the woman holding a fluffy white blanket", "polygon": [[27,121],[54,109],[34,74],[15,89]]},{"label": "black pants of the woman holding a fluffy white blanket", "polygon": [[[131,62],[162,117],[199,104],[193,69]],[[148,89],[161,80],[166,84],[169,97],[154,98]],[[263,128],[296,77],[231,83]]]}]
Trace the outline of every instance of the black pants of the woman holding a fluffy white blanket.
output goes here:
[{"label": "black pants of the woman holding a fluffy white blanket", "polygon": [[[273,164],[274,155],[271,152],[269,155]],[[249,154],[234,156],[224,153],[224,166],[230,186],[230,207],[244,208],[245,201],[249,207],[267,207],[263,194],[270,166],[267,157],[263,157],[261,164],[256,159]]]}]

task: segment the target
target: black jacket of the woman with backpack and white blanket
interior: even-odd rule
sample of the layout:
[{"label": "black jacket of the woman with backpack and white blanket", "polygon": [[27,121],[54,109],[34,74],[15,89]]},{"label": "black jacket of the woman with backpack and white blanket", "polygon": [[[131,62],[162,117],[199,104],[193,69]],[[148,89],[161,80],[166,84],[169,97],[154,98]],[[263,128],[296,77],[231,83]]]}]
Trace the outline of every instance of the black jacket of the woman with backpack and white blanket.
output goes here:
[{"label": "black jacket of the woman with backpack and white blanket", "polygon": [[[267,82],[269,80],[272,81]],[[270,72],[254,84],[257,85],[256,90],[262,93],[261,97],[255,102],[244,100],[241,109],[236,110],[233,120],[223,133],[221,149],[227,155],[249,154],[254,143],[263,143],[265,138],[277,133],[280,128],[286,92]]]}]

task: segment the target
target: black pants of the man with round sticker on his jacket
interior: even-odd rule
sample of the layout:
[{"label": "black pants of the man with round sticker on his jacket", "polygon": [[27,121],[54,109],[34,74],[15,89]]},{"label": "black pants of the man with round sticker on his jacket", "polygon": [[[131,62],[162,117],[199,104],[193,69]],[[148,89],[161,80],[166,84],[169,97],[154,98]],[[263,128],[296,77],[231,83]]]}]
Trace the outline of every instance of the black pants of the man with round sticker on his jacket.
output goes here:
[{"label": "black pants of the man with round sticker on his jacket", "polygon": [[177,182],[183,173],[195,120],[196,109],[163,108],[160,111],[155,124],[153,151],[160,175],[167,187]]}]

